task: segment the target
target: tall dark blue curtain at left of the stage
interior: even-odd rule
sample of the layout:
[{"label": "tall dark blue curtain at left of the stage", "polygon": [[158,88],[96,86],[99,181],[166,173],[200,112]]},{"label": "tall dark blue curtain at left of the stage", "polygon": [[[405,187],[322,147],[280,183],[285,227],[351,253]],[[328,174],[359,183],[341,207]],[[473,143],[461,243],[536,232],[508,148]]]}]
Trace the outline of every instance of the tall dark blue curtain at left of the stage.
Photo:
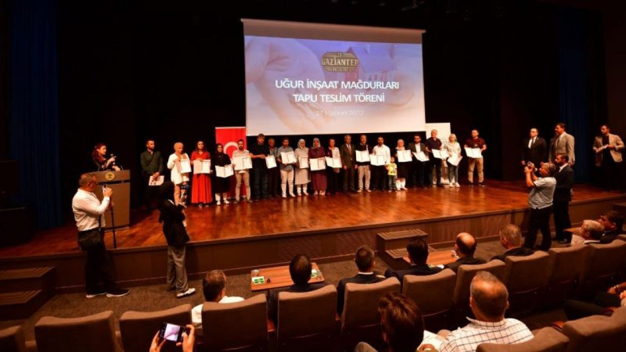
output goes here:
[{"label": "tall dark blue curtain at left of the stage", "polygon": [[19,165],[19,202],[39,228],[62,224],[59,197],[56,0],[11,3],[11,158]]}]

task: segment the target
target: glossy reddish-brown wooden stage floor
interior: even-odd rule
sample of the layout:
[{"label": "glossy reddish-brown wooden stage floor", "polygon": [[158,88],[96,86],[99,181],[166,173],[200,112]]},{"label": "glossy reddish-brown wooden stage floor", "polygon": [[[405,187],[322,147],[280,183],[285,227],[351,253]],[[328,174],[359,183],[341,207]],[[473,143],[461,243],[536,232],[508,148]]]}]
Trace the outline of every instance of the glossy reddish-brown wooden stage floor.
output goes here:
[{"label": "glossy reddish-brown wooden stage floor", "polygon": [[[573,203],[593,200],[623,202],[625,195],[603,193],[589,185],[575,185]],[[488,187],[458,189],[409,189],[403,192],[371,192],[272,199],[252,204],[210,205],[187,208],[192,242],[225,242],[254,236],[277,237],[347,227],[376,227],[419,219],[463,217],[503,210],[524,209],[528,192],[523,181],[490,180]],[[608,209],[607,209],[608,210]],[[589,214],[595,218],[598,214]],[[573,219],[574,220],[574,219]],[[130,229],[117,230],[118,249],[138,249],[166,244],[158,223],[158,210],[133,214]],[[113,248],[110,232],[106,245]],[[0,249],[0,258],[80,252],[73,222],[36,234],[28,244]]]}]

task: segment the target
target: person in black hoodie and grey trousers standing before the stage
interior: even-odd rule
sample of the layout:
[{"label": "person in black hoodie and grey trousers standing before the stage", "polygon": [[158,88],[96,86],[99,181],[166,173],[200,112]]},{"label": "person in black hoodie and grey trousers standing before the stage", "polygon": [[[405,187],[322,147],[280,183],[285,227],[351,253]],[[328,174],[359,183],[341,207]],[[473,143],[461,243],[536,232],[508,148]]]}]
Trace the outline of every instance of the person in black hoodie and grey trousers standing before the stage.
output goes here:
[{"label": "person in black hoodie and grey trousers standing before the stage", "polygon": [[163,234],[167,240],[167,287],[177,291],[176,298],[195,293],[195,288],[187,284],[185,269],[185,244],[189,242],[185,229],[185,214],[182,204],[174,204],[174,184],[170,181],[159,186],[161,214],[158,221],[163,223]]}]

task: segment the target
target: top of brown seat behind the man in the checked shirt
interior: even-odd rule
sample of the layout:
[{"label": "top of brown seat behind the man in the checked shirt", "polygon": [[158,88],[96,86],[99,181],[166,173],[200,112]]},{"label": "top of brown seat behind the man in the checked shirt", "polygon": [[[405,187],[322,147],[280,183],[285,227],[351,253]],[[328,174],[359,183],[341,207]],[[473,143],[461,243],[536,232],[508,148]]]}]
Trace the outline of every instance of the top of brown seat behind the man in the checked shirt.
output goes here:
[{"label": "top of brown seat behind the man in the checked shirt", "polygon": [[515,344],[479,344],[476,352],[565,352],[570,340],[554,328],[543,328],[530,341]]}]

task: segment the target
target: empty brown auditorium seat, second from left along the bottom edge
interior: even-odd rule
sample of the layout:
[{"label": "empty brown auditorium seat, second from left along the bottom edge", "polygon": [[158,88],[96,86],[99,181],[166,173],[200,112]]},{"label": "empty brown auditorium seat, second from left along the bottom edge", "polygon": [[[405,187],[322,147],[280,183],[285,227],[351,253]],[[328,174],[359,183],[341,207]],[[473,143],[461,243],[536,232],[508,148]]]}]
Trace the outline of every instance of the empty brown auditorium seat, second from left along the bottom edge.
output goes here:
[{"label": "empty brown auditorium seat, second from left along the bottom edge", "polygon": [[113,311],[80,318],[44,316],[35,324],[35,340],[38,352],[122,351],[115,337]]}]

